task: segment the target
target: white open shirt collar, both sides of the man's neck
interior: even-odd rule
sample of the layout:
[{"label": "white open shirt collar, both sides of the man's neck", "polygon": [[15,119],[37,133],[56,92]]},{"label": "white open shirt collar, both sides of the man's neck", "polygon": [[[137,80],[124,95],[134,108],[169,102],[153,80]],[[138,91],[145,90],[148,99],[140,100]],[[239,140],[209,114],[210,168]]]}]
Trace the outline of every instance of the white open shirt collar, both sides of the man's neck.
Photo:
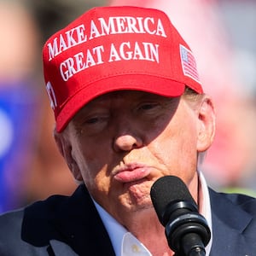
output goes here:
[{"label": "white open shirt collar, both sides of the man's neck", "polygon": [[[207,219],[207,224],[212,232],[212,213],[209,190],[207,182],[202,172],[199,172],[199,191],[200,191],[200,213]],[[93,200],[94,201],[94,200]],[[119,224],[108,212],[94,201],[97,211],[99,212],[102,222],[108,231],[108,236],[113,245],[113,250],[117,256],[125,255],[143,255],[151,256],[148,249],[143,243],[138,241],[128,230]],[[206,256],[210,255],[212,247],[212,237],[206,247]],[[127,254],[125,253],[127,252]],[[128,253],[129,252],[129,253]]]}]

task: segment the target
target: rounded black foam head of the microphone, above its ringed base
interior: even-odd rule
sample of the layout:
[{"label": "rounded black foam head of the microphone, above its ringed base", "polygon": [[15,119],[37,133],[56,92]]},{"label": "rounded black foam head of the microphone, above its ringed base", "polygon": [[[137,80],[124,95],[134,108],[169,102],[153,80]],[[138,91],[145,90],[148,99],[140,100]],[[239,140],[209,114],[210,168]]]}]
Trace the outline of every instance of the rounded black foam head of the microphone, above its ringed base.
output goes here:
[{"label": "rounded black foam head of the microphone, above its ringed base", "polygon": [[165,214],[168,205],[178,201],[188,201],[196,207],[186,184],[176,176],[164,176],[156,180],[151,188],[150,196],[155,212],[163,225],[166,225]]}]

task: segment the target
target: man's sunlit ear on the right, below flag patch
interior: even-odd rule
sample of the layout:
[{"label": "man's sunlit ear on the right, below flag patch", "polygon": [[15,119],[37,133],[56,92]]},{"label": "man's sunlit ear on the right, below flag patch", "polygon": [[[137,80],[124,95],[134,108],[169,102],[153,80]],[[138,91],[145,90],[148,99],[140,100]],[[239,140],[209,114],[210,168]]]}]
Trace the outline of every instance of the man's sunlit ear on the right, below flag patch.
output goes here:
[{"label": "man's sunlit ear on the right, below flag patch", "polygon": [[215,111],[212,99],[204,96],[198,112],[197,151],[204,152],[212,145],[215,136]]}]

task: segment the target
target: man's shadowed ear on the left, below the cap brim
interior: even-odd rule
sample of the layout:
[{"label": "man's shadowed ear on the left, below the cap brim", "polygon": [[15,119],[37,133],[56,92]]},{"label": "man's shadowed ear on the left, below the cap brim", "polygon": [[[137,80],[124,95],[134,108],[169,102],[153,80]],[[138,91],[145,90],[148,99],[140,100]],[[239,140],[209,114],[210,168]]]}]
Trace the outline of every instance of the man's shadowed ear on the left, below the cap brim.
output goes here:
[{"label": "man's shadowed ear on the left, below the cap brim", "polygon": [[73,177],[79,182],[83,181],[79,166],[76,160],[73,158],[73,154],[72,154],[73,148],[71,146],[71,143],[69,143],[69,140],[67,139],[67,137],[65,137],[63,132],[59,133],[55,130],[54,138],[55,138],[55,143],[57,145],[57,148],[59,149],[64,160],[66,160],[67,166],[69,170],[72,172]]}]

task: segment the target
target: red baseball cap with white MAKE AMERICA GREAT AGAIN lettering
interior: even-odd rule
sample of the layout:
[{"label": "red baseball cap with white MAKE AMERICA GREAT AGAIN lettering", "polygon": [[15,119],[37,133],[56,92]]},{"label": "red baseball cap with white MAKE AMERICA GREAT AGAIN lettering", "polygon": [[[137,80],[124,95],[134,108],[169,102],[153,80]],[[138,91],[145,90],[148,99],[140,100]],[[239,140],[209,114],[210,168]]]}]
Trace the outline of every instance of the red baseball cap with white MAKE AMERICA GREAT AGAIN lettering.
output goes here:
[{"label": "red baseball cap with white MAKE AMERICA GREAT AGAIN lettering", "polygon": [[56,130],[96,96],[143,90],[202,93],[195,58],[168,16],[130,6],[90,9],[44,44],[44,79]]}]

